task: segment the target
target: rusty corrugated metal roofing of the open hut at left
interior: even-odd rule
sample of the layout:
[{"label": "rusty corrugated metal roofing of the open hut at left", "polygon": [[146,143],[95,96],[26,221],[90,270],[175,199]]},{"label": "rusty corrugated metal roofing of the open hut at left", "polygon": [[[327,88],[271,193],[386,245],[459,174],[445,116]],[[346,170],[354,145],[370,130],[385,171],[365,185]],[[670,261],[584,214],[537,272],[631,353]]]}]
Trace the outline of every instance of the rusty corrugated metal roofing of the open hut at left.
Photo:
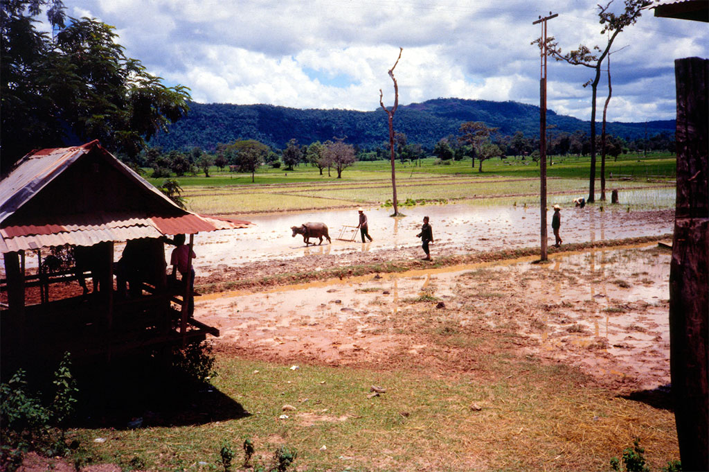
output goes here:
[{"label": "rusty corrugated metal roofing of the open hut at left", "polygon": [[[24,217],[12,225],[2,224],[8,216],[32,199],[82,155],[97,150],[111,165],[130,177],[139,191],[160,196],[164,214],[147,212],[93,212]],[[123,165],[98,141],[73,148],[44,149],[26,155],[0,182],[0,250],[2,253],[48,246],[93,246],[103,241],[128,241],[162,235],[195,234],[201,231],[247,228],[249,221],[202,216],[180,209],[160,190]]]}]

